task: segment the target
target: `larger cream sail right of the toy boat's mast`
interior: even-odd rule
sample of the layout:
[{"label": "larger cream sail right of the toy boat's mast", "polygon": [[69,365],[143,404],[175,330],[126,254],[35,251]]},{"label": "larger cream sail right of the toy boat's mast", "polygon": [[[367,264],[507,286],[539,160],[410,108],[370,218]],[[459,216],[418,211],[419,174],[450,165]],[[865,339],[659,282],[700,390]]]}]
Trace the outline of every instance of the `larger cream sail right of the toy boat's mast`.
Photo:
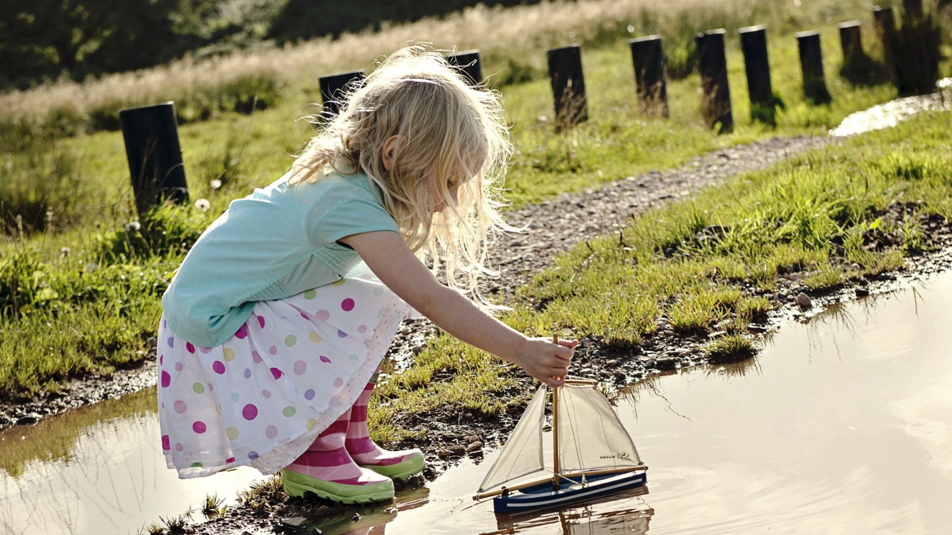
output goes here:
[{"label": "larger cream sail right of the toy boat's mast", "polygon": [[563,473],[642,464],[625,426],[594,383],[562,387],[556,432]]}]

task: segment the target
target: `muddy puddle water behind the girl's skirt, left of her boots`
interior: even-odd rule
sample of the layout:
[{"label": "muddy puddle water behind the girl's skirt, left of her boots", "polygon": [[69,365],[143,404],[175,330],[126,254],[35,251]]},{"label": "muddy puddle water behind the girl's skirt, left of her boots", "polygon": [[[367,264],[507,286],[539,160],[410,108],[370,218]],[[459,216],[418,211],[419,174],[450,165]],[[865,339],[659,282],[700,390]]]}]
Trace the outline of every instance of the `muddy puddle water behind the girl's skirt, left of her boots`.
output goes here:
[{"label": "muddy puddle water behind the girl's skirt, left of her boots", "polygon": [[199,508],[206,493],[234,504],[236,490],[263,478],[239,468],[177,479],[155,404],[152,387],[0,432],[0,533],[138,533]]}]

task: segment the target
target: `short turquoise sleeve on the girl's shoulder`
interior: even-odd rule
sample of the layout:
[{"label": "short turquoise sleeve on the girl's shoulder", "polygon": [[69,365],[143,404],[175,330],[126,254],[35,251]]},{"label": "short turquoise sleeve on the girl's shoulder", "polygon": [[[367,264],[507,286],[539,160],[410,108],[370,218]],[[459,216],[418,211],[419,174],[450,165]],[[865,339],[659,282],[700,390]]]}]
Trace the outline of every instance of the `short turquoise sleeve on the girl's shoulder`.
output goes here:
[{"label": "short turquoise sleeve on the girl's shoulder", "polygon": [[345,199],[320,214],[311,227],[311,237],[319,244],[334,244],[351,234],[392,230],[400,227],[383,206],[368,199]]}]

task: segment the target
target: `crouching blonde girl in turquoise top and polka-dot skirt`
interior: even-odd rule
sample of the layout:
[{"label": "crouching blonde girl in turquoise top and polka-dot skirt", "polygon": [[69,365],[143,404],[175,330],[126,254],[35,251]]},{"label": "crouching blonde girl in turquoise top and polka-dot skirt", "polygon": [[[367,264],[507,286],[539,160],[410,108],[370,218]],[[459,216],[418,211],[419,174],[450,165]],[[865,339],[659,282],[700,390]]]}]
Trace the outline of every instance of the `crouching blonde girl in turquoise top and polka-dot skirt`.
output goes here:
[{"label": "crouching blonde girl in turquoise top and polka-dot skirt", "polygon": [[376,446],[367,401],[413,309],[562,385],[577,342],[506,327],[477,286],[493,273],[488,243],[511,229],[496,200],[510,152],[498,95],[442,55],[408,47],[375,69],[285,176],[208,227],[163,296],[169,467],[193,478],[250,465],[282,470],[292,495],[392,497],[390,478],[424,458]]}]

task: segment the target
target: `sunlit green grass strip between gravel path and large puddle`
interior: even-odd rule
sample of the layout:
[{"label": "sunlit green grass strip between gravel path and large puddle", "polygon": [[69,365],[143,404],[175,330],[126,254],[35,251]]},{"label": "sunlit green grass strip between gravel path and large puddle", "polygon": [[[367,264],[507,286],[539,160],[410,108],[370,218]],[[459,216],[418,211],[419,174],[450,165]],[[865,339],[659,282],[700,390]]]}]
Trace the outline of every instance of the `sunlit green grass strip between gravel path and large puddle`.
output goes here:
[{"label": "sunlit green grass strip between gravel path and large puddle", "polygon": [[[862,235],[875,221],[899,235],[920,216],[952,218],[948,120],[948,113],[922,116],[647,212],[624,229],[627,247],[611,236],[560,255],[520,288],[505,321],[539,336],[567,328],[634,353],[662,315],[684,330],[710,331],[728,320],[727,334],[705,347],[708,358],[723,363],[751,355],[746,326],[771,307],[764,294],[779,268],[801,272],[815,290],[835,287],[898,268],[911,250],[847,240],[841,254],[837,236]],[[909,169],[915,178],[907,178]],[[727,229],[723,239],[698,244],[697,228],[711,225]],[[678,252],[668,257],[670,247]],[[414,438],[414,423],[429,417],[495,416],[526,401],[518,371],[448,336],[416,359],[377,388],[380,403],[370,421],[379,440]]]}]

